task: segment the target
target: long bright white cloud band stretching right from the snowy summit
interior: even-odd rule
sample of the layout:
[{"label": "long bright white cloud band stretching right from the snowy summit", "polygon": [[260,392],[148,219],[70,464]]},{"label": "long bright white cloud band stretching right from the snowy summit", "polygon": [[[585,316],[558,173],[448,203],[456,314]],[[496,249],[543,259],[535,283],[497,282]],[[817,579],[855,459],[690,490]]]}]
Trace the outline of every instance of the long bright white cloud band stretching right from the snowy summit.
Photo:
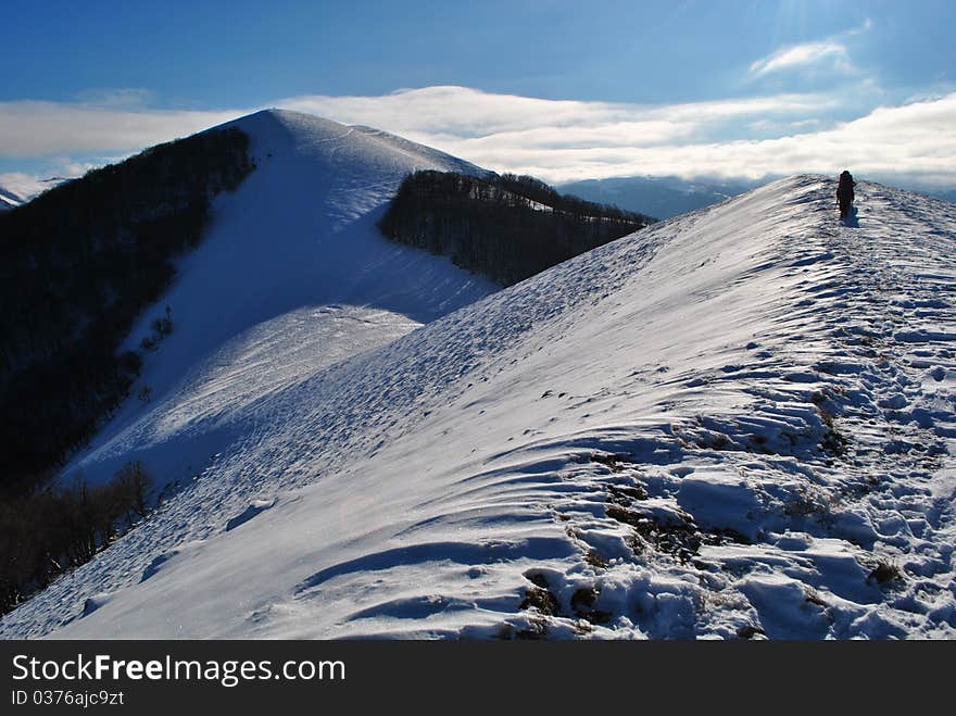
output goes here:
[{"label": "long bright white cloud band stretching right from the snowy summit", "polygon": [[[838,95],[671,105],[567,102],[460,87],[300,97],[282,106],[368,124],[496,171],[550,181],[629,175],[759,178],[854,166],[956,185],[956,93],[826,122]],[[756,125],[756,126],[755,126]],[[779,136],[753,139],[755,130]]]}]

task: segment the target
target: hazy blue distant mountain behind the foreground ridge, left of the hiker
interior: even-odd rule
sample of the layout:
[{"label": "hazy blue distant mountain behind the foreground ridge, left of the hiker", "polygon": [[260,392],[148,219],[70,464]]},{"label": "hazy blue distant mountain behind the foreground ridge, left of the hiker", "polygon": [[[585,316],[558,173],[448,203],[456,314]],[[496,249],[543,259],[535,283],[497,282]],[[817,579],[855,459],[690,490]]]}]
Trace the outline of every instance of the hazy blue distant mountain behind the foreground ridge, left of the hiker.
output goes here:
[{"label": "hazy blue distant mountain behind the foreground ridge, left of the hiker", "polygon": [[587,179],[561,185],[569,194],[615,204],[657,218],[670,218],[695,209],[720,203],[752,189],[742,183],[685,181],[678,177],[621,177]]}]

